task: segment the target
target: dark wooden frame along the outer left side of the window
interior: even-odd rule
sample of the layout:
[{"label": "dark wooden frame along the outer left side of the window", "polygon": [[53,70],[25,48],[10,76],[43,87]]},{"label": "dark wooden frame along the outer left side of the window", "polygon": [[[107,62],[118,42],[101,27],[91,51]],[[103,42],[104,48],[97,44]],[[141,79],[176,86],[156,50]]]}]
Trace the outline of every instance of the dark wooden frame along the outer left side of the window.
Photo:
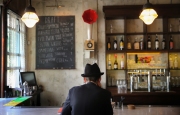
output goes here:
[{"label": "dark wooden frame along the outer left side of the window", "polygon": [[4,97],[4,88],[6,86],[6,70],[7,70],[7,9],[12,10],[18,15],[23,15],[27,6],[27,0],[5,0],[3,6],[0,6],[0,97]]}]

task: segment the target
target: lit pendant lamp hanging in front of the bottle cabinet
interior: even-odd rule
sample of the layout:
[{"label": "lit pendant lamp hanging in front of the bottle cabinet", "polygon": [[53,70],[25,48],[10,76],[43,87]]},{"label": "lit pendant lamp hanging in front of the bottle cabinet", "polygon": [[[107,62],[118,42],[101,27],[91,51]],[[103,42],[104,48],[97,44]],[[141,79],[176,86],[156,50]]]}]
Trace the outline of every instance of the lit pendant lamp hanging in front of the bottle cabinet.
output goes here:
[{"label": "lit pendant lamp hanging in front of the bottle cabinet", "polygon": [[158,14],[153,9],[153,5],[149,3],[149,0],[147,0],[147,3],[143,6],[143,11],[141,12],[139,18],[143,20],[145,24],[150,25],[157,17]]}]

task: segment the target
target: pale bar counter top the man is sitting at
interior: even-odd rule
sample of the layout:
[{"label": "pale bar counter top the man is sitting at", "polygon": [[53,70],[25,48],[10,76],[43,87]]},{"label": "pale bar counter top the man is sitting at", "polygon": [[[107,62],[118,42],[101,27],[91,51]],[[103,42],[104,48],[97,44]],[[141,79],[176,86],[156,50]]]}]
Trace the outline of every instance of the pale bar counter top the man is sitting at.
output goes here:
[{"label": "pale bar counter top the man is sitting at", "polygon": [[[59,107],[52,106],[3,106],[13,98],[0,98],[0,115],[57,115]],[[135,109],[114,108],[114,115],[180,115],[179,106],[135,105]]]}]

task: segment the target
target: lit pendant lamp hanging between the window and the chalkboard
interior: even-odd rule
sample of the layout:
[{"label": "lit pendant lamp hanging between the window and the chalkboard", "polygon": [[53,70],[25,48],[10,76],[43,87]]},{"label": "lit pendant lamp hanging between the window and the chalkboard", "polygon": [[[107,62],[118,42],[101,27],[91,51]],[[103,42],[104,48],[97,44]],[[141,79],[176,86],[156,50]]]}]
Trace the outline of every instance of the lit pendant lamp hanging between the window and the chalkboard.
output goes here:
[{"label": "lit pendant lamp hanging between the window and the chalkboard", "polygon": [[31,5],[31,0],[29,0],[29,6],[25,9],[25,13],[21,20],[26,24],[28,28],[32,28],[38,21],[39,18],[36,15],[35,8]]}]

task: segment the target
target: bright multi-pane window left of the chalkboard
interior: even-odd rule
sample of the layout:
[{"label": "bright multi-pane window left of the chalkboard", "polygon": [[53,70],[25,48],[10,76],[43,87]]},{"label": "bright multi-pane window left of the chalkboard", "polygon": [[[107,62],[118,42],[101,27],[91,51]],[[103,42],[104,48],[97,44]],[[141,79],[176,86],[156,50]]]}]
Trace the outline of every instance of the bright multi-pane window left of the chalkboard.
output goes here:
[{"label": "bright multi-pane window left of the chalkboard", "polygon": [[25,71],[25,25],[20,16],[7,13],[7,86],[19,88],[20,71]]}]

